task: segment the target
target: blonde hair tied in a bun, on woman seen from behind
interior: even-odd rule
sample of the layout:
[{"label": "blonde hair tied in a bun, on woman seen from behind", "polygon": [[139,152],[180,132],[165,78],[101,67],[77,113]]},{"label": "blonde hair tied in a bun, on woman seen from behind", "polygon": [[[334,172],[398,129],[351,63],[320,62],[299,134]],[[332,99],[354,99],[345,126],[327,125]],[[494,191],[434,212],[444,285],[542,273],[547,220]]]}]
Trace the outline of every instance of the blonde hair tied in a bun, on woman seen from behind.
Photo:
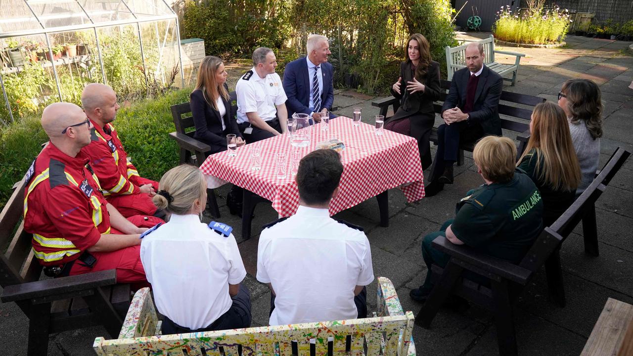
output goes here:
[{"label": "blonde hair tied in a bun, on woman seen from behind", "polygon": [[[202,172],[192,165],[179,165],[168,170],[160,179],[158,194],[152,201],[168,213],[184,215],[191,212],[196,199],[202,199],[206,180]],[[206,201],[200,203],[206,204]]]}]

